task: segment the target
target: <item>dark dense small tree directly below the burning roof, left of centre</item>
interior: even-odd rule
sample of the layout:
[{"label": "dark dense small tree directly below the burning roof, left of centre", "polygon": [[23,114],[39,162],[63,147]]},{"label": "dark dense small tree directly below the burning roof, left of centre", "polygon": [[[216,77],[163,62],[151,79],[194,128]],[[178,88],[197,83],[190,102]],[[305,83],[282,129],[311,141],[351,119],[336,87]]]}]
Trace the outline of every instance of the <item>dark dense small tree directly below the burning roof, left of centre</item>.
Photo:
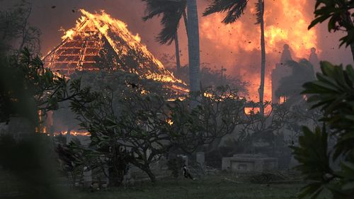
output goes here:
[{"label": "dark dense small tree directly below the burning roof, left of centre", "polygon": [[[73,101],[72,110],[84,129],[91,132],[91,146],[106,149],[105,157],[114,160],[117,152],[127,154],[127,163],[145,171],[155,181],[150,164],[169,149],[169,135],[164,130],[165,101],[156,94],[144,95],[139,88],[115,93],[106,88],[101,93],[79,96],[86,99]],[[149,151],[149,152],[147,152]]]}]

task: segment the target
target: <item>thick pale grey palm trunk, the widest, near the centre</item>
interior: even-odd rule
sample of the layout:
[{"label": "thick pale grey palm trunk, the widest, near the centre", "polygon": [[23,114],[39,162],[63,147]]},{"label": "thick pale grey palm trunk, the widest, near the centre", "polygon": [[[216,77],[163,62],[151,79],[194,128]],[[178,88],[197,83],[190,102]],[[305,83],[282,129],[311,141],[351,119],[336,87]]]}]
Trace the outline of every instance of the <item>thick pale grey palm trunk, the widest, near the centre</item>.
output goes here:
[{"label": "thick pale grey palm trunk, the widest, near the centre", "polygon": [[[200,46],[197,1],[187,1],[188,16],[188,56],[189,56],[189,79],[190,93],[195,94],[200,91]],[[193,107],[196,103],[191,103]]]}]

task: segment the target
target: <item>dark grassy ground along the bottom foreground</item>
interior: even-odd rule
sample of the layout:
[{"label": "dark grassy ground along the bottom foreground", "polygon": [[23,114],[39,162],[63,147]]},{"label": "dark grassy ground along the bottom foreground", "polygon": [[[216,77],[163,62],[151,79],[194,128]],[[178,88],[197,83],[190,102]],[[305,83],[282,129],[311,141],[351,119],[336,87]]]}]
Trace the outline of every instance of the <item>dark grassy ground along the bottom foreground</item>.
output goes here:
[{"label": "dark grassy ground along the bottom foreground", "polygon": [[235,183],[224,177],[213,176],[197,181],[186,179],[160,180],[156,184],[142,183],[127,189],[117,188],[110,191],[75,191],[69,198],[72,199],[187,199],[187,198],[217,198],[217,199],[285,199],[296,198],[302,187],[300,184],[254,184]]}]

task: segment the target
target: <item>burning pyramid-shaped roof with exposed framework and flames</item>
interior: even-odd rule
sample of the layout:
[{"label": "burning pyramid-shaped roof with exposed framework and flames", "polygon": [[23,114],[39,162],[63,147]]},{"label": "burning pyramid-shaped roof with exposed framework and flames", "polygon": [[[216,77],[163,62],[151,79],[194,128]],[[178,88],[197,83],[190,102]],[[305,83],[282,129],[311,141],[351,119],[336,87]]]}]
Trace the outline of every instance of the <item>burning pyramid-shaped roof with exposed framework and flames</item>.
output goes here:
[{"label": "burning pyramid-shaped roof with exposed framework and flames", "polygon": [[82,16],[76,26],[67,30],[62,42],[43,58],[46,67],[70,75],[76,70],[99,70],[99,60],[106,59],[103,62],[110,62],[114,69],[166,82],[178,93],[188,92],[186,84],[165,69],[142,45],[139,35],[130,33],[124,22],[111,18],[104,11],[80,11]]}]

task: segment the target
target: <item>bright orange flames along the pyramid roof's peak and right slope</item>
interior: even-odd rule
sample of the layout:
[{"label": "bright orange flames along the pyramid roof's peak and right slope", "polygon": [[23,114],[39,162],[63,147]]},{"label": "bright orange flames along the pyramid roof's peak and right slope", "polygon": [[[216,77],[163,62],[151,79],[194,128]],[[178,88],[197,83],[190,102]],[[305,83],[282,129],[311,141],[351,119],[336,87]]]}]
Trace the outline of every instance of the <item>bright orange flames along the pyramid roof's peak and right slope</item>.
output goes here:
[{"label": "bright orange flames along the pyramid roof's peak and right slope", "polygon": [[173,86],[170,86],[171,89],[188,93],[186,84],[164,68],[164,65],[147,50],[147,46],[141,43],[139,34],[133,35],[130,33],[127,29],[127,24],[112,18],[105,11],[101,11],[101,13],[89,13],[83,9],[80,11],[82,13],[81,18],[76,21],[74,28],[66,31],[62,37],[64,41],[73,40],[76,36],[82,36],[83,34],[99,32],[102,37],[108,40],[117,55],[135,56],[128,55],[130,50],[135,50],[137,56],[133,57],[133,59],[139,59],[139,56],[146,58],[147,61],[139,62],[139,68],[128,69],[129,72],[144,76],[147,79],[171,83],[173,84]]}]

